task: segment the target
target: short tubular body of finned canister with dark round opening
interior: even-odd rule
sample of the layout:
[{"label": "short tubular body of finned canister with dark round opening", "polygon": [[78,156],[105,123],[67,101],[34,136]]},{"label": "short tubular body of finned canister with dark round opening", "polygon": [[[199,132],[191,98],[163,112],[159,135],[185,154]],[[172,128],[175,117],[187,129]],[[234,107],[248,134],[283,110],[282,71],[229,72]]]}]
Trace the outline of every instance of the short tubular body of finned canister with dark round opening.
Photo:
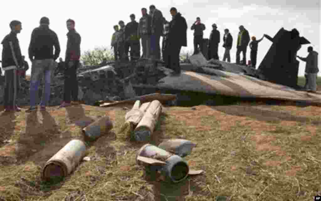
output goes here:
[{"label": "short tubular body of finned canister with dark round opening", "polygon": [[160,160],[166,165],[159,166],[158,170],[165,176],[166,180],[174,183],[187,178],[189,167],[187,163],[178,155],[174,155],[151,144],[145,144],[137,153],[136,162],[143,165],[143,162],[137,160],[138,156]]}]

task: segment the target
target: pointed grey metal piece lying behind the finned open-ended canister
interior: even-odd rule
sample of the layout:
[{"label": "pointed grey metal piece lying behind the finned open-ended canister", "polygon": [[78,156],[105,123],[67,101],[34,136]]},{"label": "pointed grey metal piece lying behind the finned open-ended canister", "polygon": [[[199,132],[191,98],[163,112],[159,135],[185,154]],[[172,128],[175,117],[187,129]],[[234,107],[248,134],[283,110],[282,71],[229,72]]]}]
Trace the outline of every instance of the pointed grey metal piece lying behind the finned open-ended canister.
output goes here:
[{"label": "pointed grey metal piece lying behind the finned open-ended canister", "polygon": [[192,152],[196,144],[184,139],[170,139],[160,143],[158,147],[184,158]]}]

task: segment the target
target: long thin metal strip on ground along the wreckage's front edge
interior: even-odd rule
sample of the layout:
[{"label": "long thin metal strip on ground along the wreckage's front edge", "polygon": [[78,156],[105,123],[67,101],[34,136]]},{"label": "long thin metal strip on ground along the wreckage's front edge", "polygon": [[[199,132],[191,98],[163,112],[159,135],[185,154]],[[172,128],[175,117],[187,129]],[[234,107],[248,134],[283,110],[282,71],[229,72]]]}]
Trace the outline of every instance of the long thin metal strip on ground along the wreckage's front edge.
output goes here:
[{"label": "long thin metal strip on ground along the wreckage's front edge", "polygon": [[103,104],[100,104],[100,107],[108,107],[108,106],[114,106],[119,104],[133,104],[136,100],[140,100],[141,103],[150,102],[153,100],[158,100],[161,103],[164,103],[175,99],[176,99],[176,95],[173,95],[173,94],[154,93],[154,94],[148,94],[144,96],[137,96],[127,100],[116,101],[114,103],[103,103]]}]

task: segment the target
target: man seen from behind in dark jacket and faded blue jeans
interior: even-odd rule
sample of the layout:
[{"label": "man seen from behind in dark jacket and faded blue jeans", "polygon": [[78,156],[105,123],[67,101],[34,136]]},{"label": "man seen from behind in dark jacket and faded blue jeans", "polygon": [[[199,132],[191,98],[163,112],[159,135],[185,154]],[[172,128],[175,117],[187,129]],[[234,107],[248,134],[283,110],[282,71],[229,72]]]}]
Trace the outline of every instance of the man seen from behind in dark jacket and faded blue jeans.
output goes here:
[{"label": "man seen from behind in dark jacket and faded blue jeans", "polygon": [[[53,53],[55,47],[55,54]],[[38,86],[40,79],[44,78],[45,87],[42,90],[40,109],[45,110],[50,98],[51,71],[56,69],[60,54],[60,45],[57,34],[49,29],[48,17],[40,19],[40,26],[31,33],[29,45],[29,59],[31,65],[30,78],[30,108],[26,112],[37,110]]]}]

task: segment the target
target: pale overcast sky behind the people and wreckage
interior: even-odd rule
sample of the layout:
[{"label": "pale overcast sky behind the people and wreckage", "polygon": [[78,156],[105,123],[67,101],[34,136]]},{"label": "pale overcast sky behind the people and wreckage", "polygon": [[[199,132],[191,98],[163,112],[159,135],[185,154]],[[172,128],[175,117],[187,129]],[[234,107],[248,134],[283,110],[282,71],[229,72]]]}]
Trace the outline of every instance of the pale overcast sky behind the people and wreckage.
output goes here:
[{"label": "pale overcast sky behind the people and wreckage", "polygon": [[[212,24],[216,23],[218,30],[230,29],[233,36],[233,47],[231,50],[231,60],[235,62],[236,38],[239,25],[244,25],[250,36],[261,38],[264,33],[273,37],[282,27],[287,30],[297,28],[300,36],[304,36],[313,48],[320,50],[320,3],[318,0],[234,0],[210,1],[210,0],[163,0],[151,1],[62,1],[56,0],[46,5],[47,1],[2,1],[0,18],[0,36],[3,37],[10,32],[9,23],[12,20],[22,22],[22,32],[18,34],[22,54],[28,57],[28,46],[32,30],[39,26],[39,20],[47,16],[50,20],[50,28],[58,35],[61,46],[60,57],[65,57],[67,42],[67,29],[65,22],[72,18],[76,22],[76,30],[81,34],[81,51],[91,50],[99,46],[110,45],[113,25],[119,20],[125,23],[130,21],[129,15],[134,13],[136,20],[141,17],[141,8],[154,4],[167,20],[171,19],[169,9],[175,6],[178,12],[186,18],[188,23],[187,47],[182,48],[182,52],[193,51],[193,31],[190,26],[195,22],[196,17],[200,17],[205,24],[204,37],[208,38],[212,30]],[[276,4],[277,3],[277,4]],[[161,41],[161,40],[160,40]],[[271,46],[271,42],[264,39],[259,43],[257,66],[265,56]],[[298,55],[306,57],[308,45],[303,45]],[[0,46],[2,51],[2,46]],[[222,42],[219,45],[219,57],[222,59],[224,49]],[[247,60],[249,60],[249,48],[247,50]],[[320,63],[319,53],[319,63]],[[30,64],[29,59],[27,60]],[[319,65],[320,66],[320,65]],[[31,67],[31,66],[30,66]],[[304,74],[305,62],[300,62],[299,75]],[[31,68],[30,68],[31,69]],[[28,70],[27,74],[30,74]]]}]

